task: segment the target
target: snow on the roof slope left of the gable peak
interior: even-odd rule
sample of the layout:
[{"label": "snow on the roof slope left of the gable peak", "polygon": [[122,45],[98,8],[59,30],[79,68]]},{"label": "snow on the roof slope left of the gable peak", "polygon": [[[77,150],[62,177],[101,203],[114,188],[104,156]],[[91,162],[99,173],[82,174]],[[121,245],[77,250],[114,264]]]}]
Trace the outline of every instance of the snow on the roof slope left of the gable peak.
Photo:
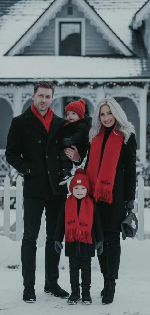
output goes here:
[{"label": "snow on the roof slope left of the gable peak", "polygon": [[54,0],[20,0],[0,17],[0,55],[5,54]]}]

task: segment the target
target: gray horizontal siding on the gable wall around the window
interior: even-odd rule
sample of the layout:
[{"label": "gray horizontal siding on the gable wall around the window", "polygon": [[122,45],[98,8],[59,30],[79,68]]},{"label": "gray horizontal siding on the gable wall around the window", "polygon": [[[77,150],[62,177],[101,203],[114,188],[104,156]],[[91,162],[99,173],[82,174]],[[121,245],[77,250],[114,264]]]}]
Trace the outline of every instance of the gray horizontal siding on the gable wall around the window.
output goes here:
[{"label": "gray horizontal siding on the gable wall around the window", "polygon": [[[68,15],[67,9],[73,7],[73,14]],[[64,5],[61,12],[56,14],[56,18],[84,18],[84,14],[79,12],[77,6],[72,5],[69,0]],[[48,26],[45,26],[42,33],[39,33],[35,41],[25,48],[23,55],[54,55],[55,54],[55,20],[51,20]],[[102,34],[96,31],[96,28],[86,19],[86,55],[116,55],[113,47],[110,47],[108,41],[103,39]]]}]

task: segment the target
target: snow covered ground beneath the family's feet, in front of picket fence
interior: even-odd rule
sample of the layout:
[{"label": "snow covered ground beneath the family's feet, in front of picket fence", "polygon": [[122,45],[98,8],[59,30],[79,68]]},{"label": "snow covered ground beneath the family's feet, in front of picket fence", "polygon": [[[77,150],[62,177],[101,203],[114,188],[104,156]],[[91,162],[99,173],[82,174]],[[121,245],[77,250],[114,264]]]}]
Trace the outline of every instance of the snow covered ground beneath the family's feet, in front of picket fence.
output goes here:
[{"label": "snow covered ground beneath the family's feet, in front of picket fence", "polygon": [[[98,266],[97,257],[92,259],[92,305],[83,306],[81,301],[75,306],[67,305],[61,300],[43,292],[45,280],[45,248],[37,248],[36,256],[36,303],[22,301],[23,279],[20,260],[21,241],[11,241],[0,236],[0,315],[72,315],[77,312],[93,315],[149,315],[150,314],[150,240],[143,242],[137,239],[121,241],[121,261],[119,280],[116,281],[114,302],[102,305],[100,291],[103,278]],[[8,266],[19,265],[18,269]],[[59,284],[70,292],[69,263],[64,257],[60,260]]]}]

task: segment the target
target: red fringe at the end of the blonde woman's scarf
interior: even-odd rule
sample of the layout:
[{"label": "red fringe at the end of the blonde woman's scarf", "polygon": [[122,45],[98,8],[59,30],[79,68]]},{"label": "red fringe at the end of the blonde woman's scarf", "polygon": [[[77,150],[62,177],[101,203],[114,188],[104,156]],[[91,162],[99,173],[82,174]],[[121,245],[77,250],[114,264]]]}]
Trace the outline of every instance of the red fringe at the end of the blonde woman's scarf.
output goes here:
[{"label": "red fringe at the end of the blonde woman's scarf", "polygon": [[113,203],[113,193],[104,188],[95,188],[93,192],[94,200],[107,202],[108,204]]}]

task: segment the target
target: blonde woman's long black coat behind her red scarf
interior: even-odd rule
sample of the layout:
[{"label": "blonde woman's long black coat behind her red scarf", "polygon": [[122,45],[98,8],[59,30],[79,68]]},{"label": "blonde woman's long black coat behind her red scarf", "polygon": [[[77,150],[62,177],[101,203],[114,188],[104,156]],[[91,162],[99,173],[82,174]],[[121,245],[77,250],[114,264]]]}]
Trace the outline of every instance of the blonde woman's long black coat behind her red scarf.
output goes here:
[{"label": "blonde woman's long black coat behind her red scarf", "polygon": [[[103,157],[104,147],[113,127],[105,127],[105,135],[102,145],[100,164]],[[122,144],[119,161],[116,169],[113,188],[113,203],[108,204],[98,201],[99,213],[104,230],[121,232],[121,223],[125,218],[125,201],[134,200],[136,192],[136,138],[131,134],[127,144]],[[87,169],[90,149],[87,154],[85,169]],[[110,163],[111,155],[110,152]],[[94,163],[94,161],[93,161]]]}]

